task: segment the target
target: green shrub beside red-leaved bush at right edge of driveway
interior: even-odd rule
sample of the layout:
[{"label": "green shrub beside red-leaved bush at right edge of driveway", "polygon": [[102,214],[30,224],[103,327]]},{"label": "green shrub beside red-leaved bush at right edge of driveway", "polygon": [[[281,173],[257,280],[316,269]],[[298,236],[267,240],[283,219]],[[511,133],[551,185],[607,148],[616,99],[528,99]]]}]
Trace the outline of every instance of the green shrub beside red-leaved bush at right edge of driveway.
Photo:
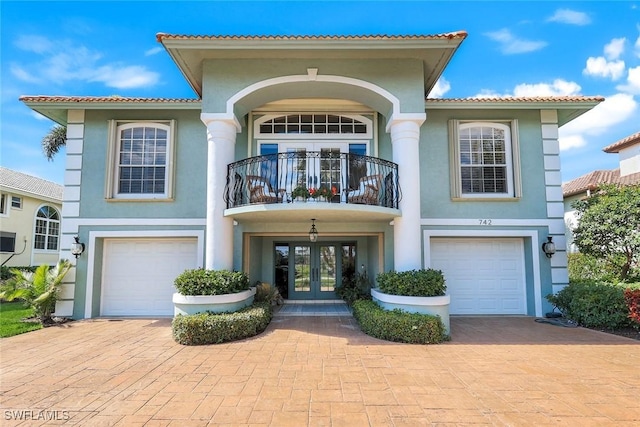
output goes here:
[{"label": "green shrub beside red-leaved bush at right edge of driveway", "polygon": [[582,326],[620,329],[632,325],[624,300],[626,287],[637,289],[640,283],[575,282],[555,295],[547,295],[547,300]]}]

